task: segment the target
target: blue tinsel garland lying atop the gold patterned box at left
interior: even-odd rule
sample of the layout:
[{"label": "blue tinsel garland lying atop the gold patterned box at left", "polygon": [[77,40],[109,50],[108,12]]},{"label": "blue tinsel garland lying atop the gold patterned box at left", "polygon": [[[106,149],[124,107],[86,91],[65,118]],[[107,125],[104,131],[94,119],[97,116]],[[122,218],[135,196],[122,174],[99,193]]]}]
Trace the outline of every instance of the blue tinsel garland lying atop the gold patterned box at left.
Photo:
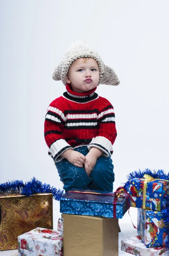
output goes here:
[{"label": "blue tinsel garland lying atop the gold patterned box at left", "polygon": [[39,193],[52,193],[57,201],[64,195],[64,190],[56,189],[49,184],[42,184],[41,181],[33,177],[30,181],[23,183],[23,180],[13,180],[0,184],[0,192],[20,192],[21,195],[30,196]]}]

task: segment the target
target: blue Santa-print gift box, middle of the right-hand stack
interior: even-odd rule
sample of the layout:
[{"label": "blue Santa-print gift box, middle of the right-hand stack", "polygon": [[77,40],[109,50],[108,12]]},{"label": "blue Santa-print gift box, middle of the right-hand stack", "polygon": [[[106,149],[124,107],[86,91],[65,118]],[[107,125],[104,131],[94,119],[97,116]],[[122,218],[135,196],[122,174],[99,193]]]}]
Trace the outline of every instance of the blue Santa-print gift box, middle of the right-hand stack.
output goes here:
[{"label": "blue Santa-print gift box, middle of the right-hand stack", "polygon": [[138,209],[137,231],[147,248],[169,246],[166,244],[168,243],[166,232],[169,232],[169,224],[163,223],[162,212]]}]

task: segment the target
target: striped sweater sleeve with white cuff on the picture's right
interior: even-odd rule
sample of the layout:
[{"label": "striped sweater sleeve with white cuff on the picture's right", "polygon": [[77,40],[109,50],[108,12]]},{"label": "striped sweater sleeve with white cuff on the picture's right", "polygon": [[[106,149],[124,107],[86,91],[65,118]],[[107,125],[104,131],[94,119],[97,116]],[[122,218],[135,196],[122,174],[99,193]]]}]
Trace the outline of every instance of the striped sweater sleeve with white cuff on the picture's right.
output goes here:
[{"label": "striped sweater sleeve with white cuff on the picture's right", "polygon": [[91,140],[87,147],[89,150],[92,147],[99,148],[104,152],[103,156],[109,157],[110,153],[113,153],[112,146],[116,136],[114,108],[108,102],[98,115],[97,136]]}]

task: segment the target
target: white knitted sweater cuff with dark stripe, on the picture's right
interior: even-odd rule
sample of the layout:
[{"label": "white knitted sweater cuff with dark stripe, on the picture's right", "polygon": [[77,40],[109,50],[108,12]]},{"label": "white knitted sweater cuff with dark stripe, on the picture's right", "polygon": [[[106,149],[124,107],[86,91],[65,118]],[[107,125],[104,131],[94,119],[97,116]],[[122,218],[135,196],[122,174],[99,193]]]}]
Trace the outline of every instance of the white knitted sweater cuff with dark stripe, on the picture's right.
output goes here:
[{"label": "white knitted sweater cuff with dark stripe, on the picture's right", "polygon": [[109,157],[110,151],[112,150],[112,143],[105,137],[97,136],[93,138],[90,144],[87,146],[88,150],[93,147],[101,149],[104,152],[102,156]]}]

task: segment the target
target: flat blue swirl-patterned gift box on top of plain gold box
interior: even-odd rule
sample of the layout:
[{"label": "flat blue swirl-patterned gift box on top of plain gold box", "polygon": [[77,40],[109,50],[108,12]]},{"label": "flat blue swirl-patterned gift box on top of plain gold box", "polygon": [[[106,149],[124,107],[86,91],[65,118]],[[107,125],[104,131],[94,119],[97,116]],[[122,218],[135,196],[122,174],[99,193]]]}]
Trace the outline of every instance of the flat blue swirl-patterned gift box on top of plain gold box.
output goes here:
[{"label": "flat blue swirl-patterned gift box on top of plain gold box", "polygon": [[[60,212],[75,215],[122,218],[130,207],[130,198],[120,196],[115,200],[113,192],[78,191],[80,193],[67,192],[60,198]],[[89,192],[99,194],[88,194]]]}]

